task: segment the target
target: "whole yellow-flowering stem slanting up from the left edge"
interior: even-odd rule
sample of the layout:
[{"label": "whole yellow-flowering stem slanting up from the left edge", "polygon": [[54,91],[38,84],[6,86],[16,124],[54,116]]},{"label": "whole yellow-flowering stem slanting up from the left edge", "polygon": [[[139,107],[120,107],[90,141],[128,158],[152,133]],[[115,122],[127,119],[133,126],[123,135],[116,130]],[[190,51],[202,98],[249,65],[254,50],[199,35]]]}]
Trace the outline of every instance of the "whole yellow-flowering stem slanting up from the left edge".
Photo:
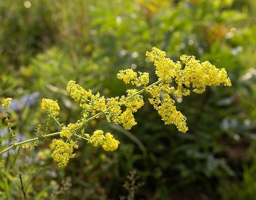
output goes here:
[{"label": "whole yellow-flowering stem slanting up from the left edge", "polygon": [[[93,94],[92,90],[86,90],[75,81],[69,81],[67,91],[74,101],[79,102],[82,109],[81,118],[75,123],[68,125],[61,124],[57,117],[59,106],[57,101],[52,99],[42,99],[41,108],[47,112],[46,124],[44,128],[37,126],[37,137],[23,142],[15,143],[15,133],[11,131],[13,144],[0,152],[3,154],[11,148],[23,146],[29,142],[41,141],[44,138],[59,135],[61,139],[53,139],[52,144],[55,150],[52,153],[54,161],[58,162],[59,167],[65,167],[70,158],[74,158],[74,148],[78,148],[77,141],[74,139],[84,139],[93,146],[101,145],[105,151],[115,151],[118,148],[119,141],[111,133],[102,130],[96,130],[93,134],[86,133],[87,124],[95,118],[104,115],[106,120],[116,124],[122,124],[124,129],[130,130],[137,124],[134,113],[144,105],[142,93],[149,93],[148,101],[161,115],[165,124],[175,124],[180,132],[185,133],[186,117],[177,111],[173,95],[180,98],[190,94],[190,88],[201,94],[206,86],[231,86],[231,81],[227,77],[224,68],[218,69],[208,61],[200,63],[194,56],[183,55],[181,61],[174,62],[166,58],[166,53],[153,47],[151,52],[146,52],[148,59],[156,67],[156,76],[158,81],[150,84],[149,74],[147,72],[135,72],[133,69],[120,70],[117,78],[123,80],[125,84],[131,83],[138,89],[126,90],[127,95],[105,98],[99,92]],[[8,120],[8,105],[11,99],[5,99],[3,103],[6,111],[6,122],[11,129]],[[49,121],[53,119],[61,128],[60,132],[49,133]],[[63,139],[64,140],[63,140]],[[35,145],[35,143],[33,144]]]}]

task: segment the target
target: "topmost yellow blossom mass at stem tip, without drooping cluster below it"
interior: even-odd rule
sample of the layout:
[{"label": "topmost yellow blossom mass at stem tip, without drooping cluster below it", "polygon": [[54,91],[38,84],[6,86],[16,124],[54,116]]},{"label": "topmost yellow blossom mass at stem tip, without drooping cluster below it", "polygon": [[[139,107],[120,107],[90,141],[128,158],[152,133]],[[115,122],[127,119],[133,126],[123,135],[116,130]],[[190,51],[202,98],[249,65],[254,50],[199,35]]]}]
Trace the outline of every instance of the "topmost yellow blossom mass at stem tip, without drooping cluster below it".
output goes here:
[{"label": "topmost yellow blossom mass at stem tip, without drooping cluster below it", "polygon": [[165,58],[166,53],[156,47],[152,48],[152,52],[146,52],[146,56],[156,66],[159,79],[162,79],[164,84],[172,86],[176,97],[189,95],[190,86],[194,88],[194,92],[199,94],[205,91],[206,86],[219,86],[220,84],[231,86],[225,68],[218,69],[208,61],[200,63],[195,56],[183,55],[180,57],[182,62],[175,63]]}]

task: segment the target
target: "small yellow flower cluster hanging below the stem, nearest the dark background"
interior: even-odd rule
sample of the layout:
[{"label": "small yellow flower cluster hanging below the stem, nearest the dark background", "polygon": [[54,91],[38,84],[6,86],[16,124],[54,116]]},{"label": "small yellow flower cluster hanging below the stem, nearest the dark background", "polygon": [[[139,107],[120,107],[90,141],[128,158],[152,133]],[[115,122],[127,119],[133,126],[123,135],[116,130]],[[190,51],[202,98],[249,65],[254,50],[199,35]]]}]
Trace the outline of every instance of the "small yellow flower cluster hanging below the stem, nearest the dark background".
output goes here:
[{"label": "small yellow flower cluster hanging below the stem, nearest the dark background", "polygon": [[93,146],[98,146],[98,144],[100,144],[104,151],[115,151],[120,142],[110,133],[106,133],[105,136],[103,134],[104,132],[101,130],[94,131],[92,136],[86,134],[86,137],[89,140],[88,143],[91,143]]}]

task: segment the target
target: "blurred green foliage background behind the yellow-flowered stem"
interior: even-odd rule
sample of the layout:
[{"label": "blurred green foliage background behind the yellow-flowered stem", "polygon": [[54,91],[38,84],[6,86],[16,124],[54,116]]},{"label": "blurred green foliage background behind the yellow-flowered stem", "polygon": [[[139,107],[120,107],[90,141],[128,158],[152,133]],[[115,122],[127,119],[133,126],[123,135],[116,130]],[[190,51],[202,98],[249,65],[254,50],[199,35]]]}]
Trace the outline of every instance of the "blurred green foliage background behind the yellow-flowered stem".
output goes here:
[{"label": "blurred green foliage background behind the yellow-flowered stem", "polygon": [[0,100],[41,94],[33,106],[12,112],[20,138],[35,137],[36,125],[43,123],[41,98],[57,99],[61,122],[79,119],[79,105],[65,90],[69,80],[106,97],[132,87],[116,79],[120,69],[147,71],[156,81],[145,57],[153,46],[174,61],[187,54],[224,67],[232,81],[232,87],[208,87],[176,102],[187,117],[186,134],[165,126],[146,95],[132,130],[103,118],[89,124],[88,133],[114,134],[120,141],[115,152],[79,141],[76,157],[59,169],[49,139],[2,157],[9,164],[1,172],[0,199],[22,198],[17,171],[28,199],[119,199],[129,196],[123,184],[130,170],[143,185],[136,199],[254,199],[253,0],[0,0],[0,17]]}]

